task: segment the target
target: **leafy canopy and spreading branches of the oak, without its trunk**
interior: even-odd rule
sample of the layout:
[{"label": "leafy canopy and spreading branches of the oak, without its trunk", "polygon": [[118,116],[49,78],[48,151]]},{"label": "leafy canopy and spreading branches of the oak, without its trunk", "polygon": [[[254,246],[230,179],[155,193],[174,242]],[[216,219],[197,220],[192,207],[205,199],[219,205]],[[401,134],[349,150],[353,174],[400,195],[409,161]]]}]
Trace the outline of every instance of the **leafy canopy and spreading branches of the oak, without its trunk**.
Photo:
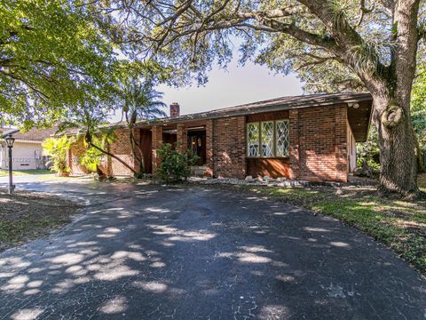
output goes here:
[{"label": "leafy canopy and spreading branches of the oak, without its trunk", "polygon": [[[394,15],[401,3],[115,0],[106,6],[99,2],[114,26],[109,28],[114,40],[133,57],[163,59],[180,70],[179,76],[185,70],[185,76],[193,74],[204,83],[215,60],[225,65],[231,59],[238,37],[242,63],[253,59],[280,73],[297,71],[310,92],[366,90],[360,75],[386,76],[396,63]],[[419,18],[421,37],[422,10]]]}]

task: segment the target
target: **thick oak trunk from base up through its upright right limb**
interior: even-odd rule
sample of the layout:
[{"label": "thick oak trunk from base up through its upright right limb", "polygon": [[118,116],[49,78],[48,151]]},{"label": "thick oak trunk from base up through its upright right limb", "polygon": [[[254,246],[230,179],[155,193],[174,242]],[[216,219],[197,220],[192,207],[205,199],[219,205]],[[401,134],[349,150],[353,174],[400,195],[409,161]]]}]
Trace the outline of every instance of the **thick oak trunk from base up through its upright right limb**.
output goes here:
[{"label": "thick oak trunk from base up through its upright right limb", "polygon": [[[369,85],[379,132],[380,188],[383,193],[417,196],[417,159],[410,100],[416,66],[419,0],[396,0],[390,66]],[[381,79],[378,80],[377,76]]]}]

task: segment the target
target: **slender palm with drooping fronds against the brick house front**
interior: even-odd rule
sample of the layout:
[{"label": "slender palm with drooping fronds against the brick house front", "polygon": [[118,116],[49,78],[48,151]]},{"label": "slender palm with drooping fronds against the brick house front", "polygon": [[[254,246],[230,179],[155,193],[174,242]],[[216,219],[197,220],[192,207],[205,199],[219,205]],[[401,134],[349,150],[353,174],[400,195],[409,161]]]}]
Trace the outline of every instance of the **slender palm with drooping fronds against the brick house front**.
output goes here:
[{"label": "slender palm with drooping fronds against the brick house front", "polygon": [[122,85],[122,115],[129,128],[129,140],[133,157],[139,165],[138,175],[145,172],[144,152],[140,142],[135,138],[135,124],[141,120],[166,116],[162,110],[166,105],[162,92],[154,90],[151,81],[142,82],[132,78]]}]

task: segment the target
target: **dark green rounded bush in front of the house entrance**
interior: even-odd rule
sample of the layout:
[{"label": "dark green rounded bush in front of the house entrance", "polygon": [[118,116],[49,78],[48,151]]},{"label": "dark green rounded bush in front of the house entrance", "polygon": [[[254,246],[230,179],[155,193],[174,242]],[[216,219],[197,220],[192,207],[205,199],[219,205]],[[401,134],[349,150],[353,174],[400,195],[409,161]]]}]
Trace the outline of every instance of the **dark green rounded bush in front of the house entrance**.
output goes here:
[{"label": "dark green rounded bush in front of the house entrance", "polygon": [[191,165],[198,162],[199,156],[187,149],[185,152],[178,151],[178,145],[172,148],[170,143],[163,143],[157,150],[161,164],[157,168],[160,179],[166,182],[181,182],[191,174]]}]

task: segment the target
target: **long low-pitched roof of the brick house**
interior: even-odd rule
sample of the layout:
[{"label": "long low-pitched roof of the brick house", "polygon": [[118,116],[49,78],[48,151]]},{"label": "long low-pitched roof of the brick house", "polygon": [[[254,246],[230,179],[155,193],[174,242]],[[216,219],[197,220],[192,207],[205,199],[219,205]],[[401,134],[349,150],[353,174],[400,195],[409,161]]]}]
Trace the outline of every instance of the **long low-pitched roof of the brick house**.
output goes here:
[{"label": "long low-pitched roof of the brick house", "polygon": [[154,124],[174,124],[191,120],[207,120],[226,116],[243,116],[263,112],[286,110],[292,108],[310,108],[319,106],[330,106],[339,103],[356,103],[372,100],[369,92],[346,92],[332,94],[308,94],[299,96],[280,97],[271,100],[262,100],[239,106],[218,108],[216,110],[194,113],[184,116],[164,117],[155,120],[140,121],[138,126]]}]

